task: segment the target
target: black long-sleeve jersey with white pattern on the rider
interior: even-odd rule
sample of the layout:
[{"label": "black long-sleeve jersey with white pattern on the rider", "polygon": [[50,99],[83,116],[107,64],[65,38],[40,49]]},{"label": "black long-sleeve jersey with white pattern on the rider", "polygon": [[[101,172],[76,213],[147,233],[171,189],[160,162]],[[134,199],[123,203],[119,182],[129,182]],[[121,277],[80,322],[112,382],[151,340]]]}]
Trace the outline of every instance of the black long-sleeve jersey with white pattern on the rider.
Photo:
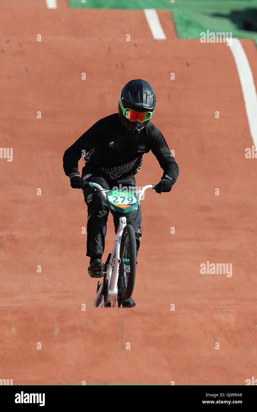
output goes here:
[{"label": "black long-sleeve jersey with white pattern on the rider", "polygon": [[175,183],[179,168],[171,155],[162,133],[149,122],[135,136],[127,136],[120,123],[119,114],[104,117],[88,129],[69,147],[63,157],[67,176],[78,172],[78,161],[98,167],[110,179],[117,180],[137,173],[143,154],[152,151],[163,169],[163,175]]}]

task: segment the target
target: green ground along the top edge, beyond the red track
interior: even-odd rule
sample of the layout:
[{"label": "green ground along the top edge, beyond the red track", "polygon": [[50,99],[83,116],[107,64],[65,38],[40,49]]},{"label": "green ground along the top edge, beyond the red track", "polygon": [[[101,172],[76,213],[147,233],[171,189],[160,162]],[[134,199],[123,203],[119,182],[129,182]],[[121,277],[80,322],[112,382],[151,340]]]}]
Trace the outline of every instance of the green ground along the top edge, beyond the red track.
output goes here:
[{"label": "green ground along the top edge, beyond the red track", "polygon": [[232,32],[233,37],[255,40],[257,33],[243,30],[245,18],[257,18],[257,0],[69,0],[70,7],[102,9],[168,9],[180,38],[199,38],[202,31]]}]

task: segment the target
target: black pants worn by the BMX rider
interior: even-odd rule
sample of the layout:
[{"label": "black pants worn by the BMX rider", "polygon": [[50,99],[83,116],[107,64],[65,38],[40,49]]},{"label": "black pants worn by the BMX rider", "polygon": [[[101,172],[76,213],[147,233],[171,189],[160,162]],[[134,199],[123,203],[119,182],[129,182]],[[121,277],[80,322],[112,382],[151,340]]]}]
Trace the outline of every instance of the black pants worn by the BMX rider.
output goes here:
[{"label": "black pants worn by the BMX rider", "polygon": [[[101,172],[100,169],[90,166],[83,167],[82,177],[86,176],[87,182],[98,183],[104,189],[113,189],[116,187],[123,190],[137,190],[134,176],[125,179],[112,180]],[[95,193],[91,189],[83,190],[84,199],[87,204],[87,256],[102,257],[104,254],[106,223],[109,211],[113,215],[115,233],[117,233],[120,223],[120,214],[117,211],[110,210],[106,205],[105,199],[101,193]],[[137,253],[140,246],[141,231],[141,209],[125,213],[127,224],[131,224],[135,231]],[[111,252],[111,250],[110,250]]]}]

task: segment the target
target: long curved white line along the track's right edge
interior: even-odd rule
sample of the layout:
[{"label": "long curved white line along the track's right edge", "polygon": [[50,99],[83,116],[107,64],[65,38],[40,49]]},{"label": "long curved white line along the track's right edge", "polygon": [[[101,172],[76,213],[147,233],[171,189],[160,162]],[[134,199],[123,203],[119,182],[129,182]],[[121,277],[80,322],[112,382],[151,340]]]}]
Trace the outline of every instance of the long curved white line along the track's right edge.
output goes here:
[{"label": "long curved white line along the track's right edge", "polygon": [[232,38],[231,41],[229,47],[236,62],[236,68],[243,90],[250,133],[255,147],[257,147],[257,94],[252,77],[252,70],[240,40]]}]

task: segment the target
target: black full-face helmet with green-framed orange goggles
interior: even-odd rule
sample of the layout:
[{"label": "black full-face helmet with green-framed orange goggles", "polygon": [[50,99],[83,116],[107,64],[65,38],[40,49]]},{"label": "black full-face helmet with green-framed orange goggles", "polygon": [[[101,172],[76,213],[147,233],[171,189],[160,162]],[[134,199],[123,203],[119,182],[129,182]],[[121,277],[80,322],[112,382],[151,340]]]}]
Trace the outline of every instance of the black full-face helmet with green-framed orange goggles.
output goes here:
[{"label": "black full-face helmet with green-framed orange goggles", "polygon": [[145,80],[128,82],[120,92],[120,122],[128,134],[135,135],[149,122],[156,107],[154,90]]}]

